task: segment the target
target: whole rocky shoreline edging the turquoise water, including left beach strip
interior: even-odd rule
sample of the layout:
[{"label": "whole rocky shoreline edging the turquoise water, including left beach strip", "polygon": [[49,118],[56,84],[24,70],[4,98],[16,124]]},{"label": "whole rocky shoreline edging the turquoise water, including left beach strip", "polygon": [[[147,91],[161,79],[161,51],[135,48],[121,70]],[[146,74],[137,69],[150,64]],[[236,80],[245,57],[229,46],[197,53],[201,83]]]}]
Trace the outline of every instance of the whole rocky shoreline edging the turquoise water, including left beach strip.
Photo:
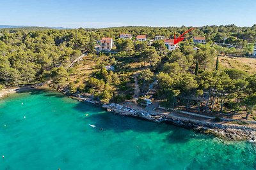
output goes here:
[{"label": "whole rocky shoreline edging the turquoise water, including left beach strip", "polygon": [[[42,88],[45,83],[38,83],[36,85],[29,85],[26,87],[13,88],[13,89],[4,89],[2,90],[1,97],[4,97],[8,94],[14,92],[21,92],[24,90],[30,90],[35,88]],[[100,104],[99,101],[95,101],[94,97],[90,94],[84,96],[81,94],[72,94],[68,90],[61,89],[59,90],[63,94],[77,99],[78,101],[88,102],[102,106],[107,111],[111,111],[115,114],[129,117],[142,118],[144,120],[150,120],[157,123],[167,123],[172,125],[177,125],[184,127],[186,129],[193,129],[197,132],[202,132],[205,134],[212,134],[218,138],[231,140],[231,141],[250,141],[256,143],[256,129],[253,127],[246,127],[245,125],[225,125],[218,122],[203,122],[200,120],[190,120],[189,118],[176,117],[174,115],[169,116],[168,118],[164,114],[150,114],[147,111],[143,110],[134,110],[120,104],[111,103],[111,104]]]}]

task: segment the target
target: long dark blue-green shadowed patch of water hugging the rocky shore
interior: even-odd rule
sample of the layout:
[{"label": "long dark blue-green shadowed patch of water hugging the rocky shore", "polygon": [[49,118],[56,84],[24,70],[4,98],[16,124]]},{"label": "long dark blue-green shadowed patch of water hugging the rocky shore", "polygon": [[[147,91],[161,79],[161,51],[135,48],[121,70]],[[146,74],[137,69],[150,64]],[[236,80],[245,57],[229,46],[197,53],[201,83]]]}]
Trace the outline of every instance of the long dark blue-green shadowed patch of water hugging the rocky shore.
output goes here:
[{"label": "long dark blue-green shadowed patch of water hugging the rocky shore", "polygon": [[104,111],[102,108],[90,103],[77,103],[74,109],[82,113],[92,113],[88,117],[90,124],[103,128],[106,131],[115,131],[117,133],[125,131],[157,132],[159,134],[168,132],[165,140],[169,143],[186,143],[191,138],[204,138],[204,136],[196,135],[195,132],[182,127],[149,122],[140,118],[115,115],[115,113]]}]

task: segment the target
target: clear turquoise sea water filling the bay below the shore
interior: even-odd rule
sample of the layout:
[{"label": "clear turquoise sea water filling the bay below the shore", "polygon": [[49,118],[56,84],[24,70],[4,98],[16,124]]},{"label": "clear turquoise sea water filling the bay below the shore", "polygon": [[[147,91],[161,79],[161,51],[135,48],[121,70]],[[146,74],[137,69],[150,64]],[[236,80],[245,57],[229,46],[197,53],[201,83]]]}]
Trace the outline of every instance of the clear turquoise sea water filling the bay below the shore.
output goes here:
[{"label": "clear turquoise sea water filling the bay below the shore", "polygon": [[256,168],[250,143],[120,117],[44,90],[0,100],[0,155],[0,169],[15,170]]}]

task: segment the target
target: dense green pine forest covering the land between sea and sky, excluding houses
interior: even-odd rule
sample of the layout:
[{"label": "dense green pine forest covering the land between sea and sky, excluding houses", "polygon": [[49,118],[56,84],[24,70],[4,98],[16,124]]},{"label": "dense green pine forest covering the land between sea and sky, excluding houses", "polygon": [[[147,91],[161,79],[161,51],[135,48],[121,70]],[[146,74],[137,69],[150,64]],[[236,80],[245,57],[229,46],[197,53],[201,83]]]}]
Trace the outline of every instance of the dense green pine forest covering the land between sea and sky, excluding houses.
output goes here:
[{"label": "dense green pine forest covering the land between sea and sky, excluding houses", "polygon": [[[172,52],[162,40],[150,43],[155,36],[173,38],[188,29],[0,29],[0,89],[51,80],[53,88],[93,94],[108,103],[131,100],[138,81],[138,103],[150,98],[166,108],[253,115],[255,66],[225,67],[220,57],[252,57],[256,25],[197,27]],[[120,33],[131,33],[132,39],[119,39]],[[134,41],[139,34],[148,41]],[[194,44],[193,36],[204,36],[207,44]],[[102,37],[114,39],[113,53],[95,51]],[[83,53],[83,60],[72,65]]]}]

